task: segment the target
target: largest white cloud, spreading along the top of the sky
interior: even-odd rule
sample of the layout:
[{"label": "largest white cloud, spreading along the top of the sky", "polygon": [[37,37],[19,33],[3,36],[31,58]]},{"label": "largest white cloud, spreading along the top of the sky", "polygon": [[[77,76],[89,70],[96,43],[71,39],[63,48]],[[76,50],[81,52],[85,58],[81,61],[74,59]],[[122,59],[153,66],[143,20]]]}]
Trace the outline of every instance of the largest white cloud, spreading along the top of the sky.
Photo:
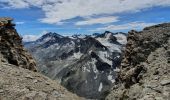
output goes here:
[{"label": "largest white cloud, spreading along the top of the sky", "polygon": [[[45,14],[40,21],[49,24],[61,24],[75,17],[110,15],[124,12],[136,12],[155,6],[170,6],[170,0],[0,0],[11,8],[42,9]],[[80,23],[80,22],[79,22]],[[81,22],[80,24],[88,23]]]}]

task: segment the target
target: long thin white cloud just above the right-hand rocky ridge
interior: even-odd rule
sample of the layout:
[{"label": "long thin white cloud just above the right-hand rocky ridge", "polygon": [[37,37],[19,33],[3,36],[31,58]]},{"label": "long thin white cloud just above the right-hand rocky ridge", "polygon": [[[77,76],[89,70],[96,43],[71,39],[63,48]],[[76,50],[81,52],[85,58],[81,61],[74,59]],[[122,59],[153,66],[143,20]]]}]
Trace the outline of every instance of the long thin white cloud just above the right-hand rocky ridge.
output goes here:
[{"label": "long thin white cloud just above the right-hand rocky ridge", "polygon": [[97,28],[96,30],[92,31],[119,31],[119,30],[128,30],[128,29],[141,29],[147,26],[154,25],[156,23],[145,23],[145,22],[131,22],[127,24],[122,24],[122,25],[110,25],[107,27],[102,27],[102,28]]}]

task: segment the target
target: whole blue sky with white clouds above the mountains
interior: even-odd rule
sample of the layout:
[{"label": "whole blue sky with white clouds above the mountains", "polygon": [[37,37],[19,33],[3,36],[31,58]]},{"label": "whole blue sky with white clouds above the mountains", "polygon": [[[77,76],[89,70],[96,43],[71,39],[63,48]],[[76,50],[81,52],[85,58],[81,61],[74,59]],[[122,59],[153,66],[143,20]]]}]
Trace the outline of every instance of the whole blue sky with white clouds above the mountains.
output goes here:
[{"label": "whole blue sky with white clouds above the mountains", "polygon": [[128,32],[170,22],[170,0],[0,0],[24,41],[61,35]]}]

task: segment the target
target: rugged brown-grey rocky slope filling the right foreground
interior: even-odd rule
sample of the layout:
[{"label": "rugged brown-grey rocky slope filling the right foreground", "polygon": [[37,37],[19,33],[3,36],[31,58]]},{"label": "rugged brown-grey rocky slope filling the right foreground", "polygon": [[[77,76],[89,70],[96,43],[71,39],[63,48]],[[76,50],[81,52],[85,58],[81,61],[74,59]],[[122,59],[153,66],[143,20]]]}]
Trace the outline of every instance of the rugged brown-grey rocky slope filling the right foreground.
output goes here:
[{"label": "rugged brown-grey rocky slope filling the right foreground", "polygon": [[130,31],[119,77],[106,100],[170,99],[170,23]]}]

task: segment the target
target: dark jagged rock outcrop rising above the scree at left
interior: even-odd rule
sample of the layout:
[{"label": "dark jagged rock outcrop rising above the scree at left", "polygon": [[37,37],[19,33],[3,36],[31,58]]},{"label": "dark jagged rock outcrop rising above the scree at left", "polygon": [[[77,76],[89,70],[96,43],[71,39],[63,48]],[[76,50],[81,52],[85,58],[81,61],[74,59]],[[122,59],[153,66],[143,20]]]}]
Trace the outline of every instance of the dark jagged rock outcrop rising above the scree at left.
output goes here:
[{"label": "dark jagged rock outcrop rising above the scree at left", "polygon": [[32,56],[23,48],[22,38],[18,35],[13,24],[0,27],[1,61],[19,67],[37,71]]}]

